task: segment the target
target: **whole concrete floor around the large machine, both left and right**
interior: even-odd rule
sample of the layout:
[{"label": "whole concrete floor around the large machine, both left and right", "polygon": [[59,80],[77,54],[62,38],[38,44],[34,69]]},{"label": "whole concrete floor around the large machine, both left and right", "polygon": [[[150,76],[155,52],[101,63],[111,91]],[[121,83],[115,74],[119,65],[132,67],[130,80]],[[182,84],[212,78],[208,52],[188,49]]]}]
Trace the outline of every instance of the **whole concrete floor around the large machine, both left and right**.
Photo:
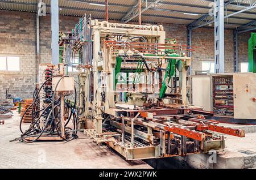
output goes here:
[{"label": "whole concrete floor around the large machine, both left and right", "polygon": [[[158,160],[129,162],[105,145],[99,146],[79,132],[72,142],[36,142],[32,144],[9,142],[20,136],[20,116],[0,125],[0,168],[254,168],[256,166],[256,126],[227,125],[245,128],[245,138],[227,136],[226,149],[218,155],[219,163],[210,165],[207,154],[171,157]],[[25,124],[24,126],[28,126]],[[152,161],[152,162],[151,162]],[[185,163],[184,163],[185,161]],[[156,163],[157,162],[157,163]],[[239,163],[238,163],[239,162]],[[157,164],[157,165],[156,165]]]}]

